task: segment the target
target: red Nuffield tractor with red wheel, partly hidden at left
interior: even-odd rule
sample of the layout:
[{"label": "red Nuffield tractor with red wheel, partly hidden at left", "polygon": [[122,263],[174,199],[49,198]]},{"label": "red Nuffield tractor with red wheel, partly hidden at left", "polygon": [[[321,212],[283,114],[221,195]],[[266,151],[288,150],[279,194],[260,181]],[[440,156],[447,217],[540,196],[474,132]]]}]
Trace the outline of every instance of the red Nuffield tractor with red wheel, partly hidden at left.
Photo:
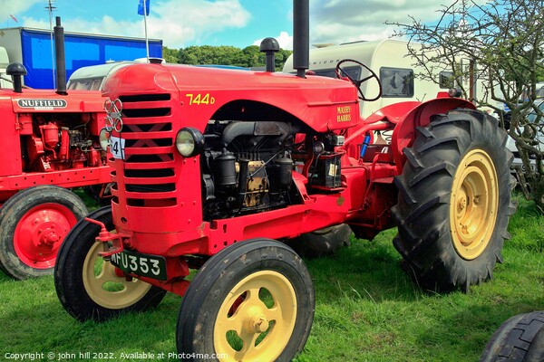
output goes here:
[{"label": "red Nuffield tractor with red wheel, partly hidden at left", "polygon": [[[63,29],[55,26],[57,59]],[[14,90],[0,90],[0,270],[15,279],[53,273],[64,236],[87,208],[70,187],[98,190],[110,180],[99,132],[106,112],[98,91],[24,90],[20,63],[7,67]]]}]

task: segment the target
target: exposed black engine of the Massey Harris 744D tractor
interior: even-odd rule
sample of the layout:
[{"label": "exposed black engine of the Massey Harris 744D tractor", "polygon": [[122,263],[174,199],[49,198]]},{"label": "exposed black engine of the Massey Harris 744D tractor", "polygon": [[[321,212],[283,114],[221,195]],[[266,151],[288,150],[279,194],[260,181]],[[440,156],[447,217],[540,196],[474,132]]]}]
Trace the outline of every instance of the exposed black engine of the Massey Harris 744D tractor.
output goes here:
[{"label": "exposed black engine of the Massey Harris 744D tractor", "polygon": [[291,205],[295,134],[286,122],[210,121],[201,157],[205,220]]}]

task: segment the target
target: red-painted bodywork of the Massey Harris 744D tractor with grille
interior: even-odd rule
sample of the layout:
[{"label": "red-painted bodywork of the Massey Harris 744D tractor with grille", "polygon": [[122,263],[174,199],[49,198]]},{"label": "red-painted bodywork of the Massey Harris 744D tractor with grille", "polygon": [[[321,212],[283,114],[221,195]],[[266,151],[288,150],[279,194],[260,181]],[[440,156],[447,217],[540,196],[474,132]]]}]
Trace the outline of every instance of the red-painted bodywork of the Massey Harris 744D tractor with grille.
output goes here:
[{"label": "red-painted bodywork of the Massey Harris 744D tractor with grille", "polygon": [[[122,68],[106,82],[103,92],[123,102],[123,127],[130,132],[113,132],[112,136],[132,140],[136,145],[125,148],[125,158],[151,154],[158,157],[151,164],[112,160],[116,183],[112,188],[112,212],[117,232],[128,235],[123,243],[131,250],[165,256],[169,272],[177,272],[170,273],[166,283],[148,278],[145,281],[179,294],[183,294],[186,284],[176,288],[173,283],[180,282],[188,270],[171,265],[186,265],[184,255],[212,255],[251,238],[293,238],[334,224],[350,224],[359,237],[366,238],[392,227],[389,210],[397,201],[393,177],[402,172],[403,148],[412,144],[415,128],[427,125],[432,114],[457,107],[473,108],[464,100],[414,101],[388,106],[368,119],[360,119],[357,90],[349,81],[183,65],[138,64]],[[165,94],[168,97],[157,97]],[[207,102],[195,104],[197,95],[203,100],[206,94]],[[317,132],[342,133],[345,144],[335,149],[343,154],[342,186],[310,193],[307,175],[297,172],[297,168],[293,181],[302,195],[300,204],[206,222],[202,219],[199,156],[181,157],[173,143],[157,146],[142,139],[173,140],[183,127],[203,133],[209,120],[218,117],[259,120],[255,109],[263,110],[259,114],[262,119],[272,113],[300,121]],[[160,116],[149,117],[151,110]],[[170,126],[144,131],[144,125],[150,124]],[[364,135],[378,129],[393,131],[390,148],[384,152],[382,145],[382,151],[369,152],[361,159]],[[131,177],[127,172],[151,167],[173,173]],[[167,184],[170,188],[164,191],[138,192],[141,186]]]}]

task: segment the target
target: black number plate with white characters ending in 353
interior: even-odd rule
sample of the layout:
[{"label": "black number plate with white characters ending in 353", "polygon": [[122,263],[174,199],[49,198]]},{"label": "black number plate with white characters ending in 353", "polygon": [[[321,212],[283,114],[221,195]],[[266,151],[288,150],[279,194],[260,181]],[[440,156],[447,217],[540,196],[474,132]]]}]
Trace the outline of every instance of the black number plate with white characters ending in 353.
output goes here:
[{"label": "black number plate with white characters ending in 353", "polygon": [[121,271],[166,281],[166,259],[162,256],[123,250],[112,255],[112,264]]}]

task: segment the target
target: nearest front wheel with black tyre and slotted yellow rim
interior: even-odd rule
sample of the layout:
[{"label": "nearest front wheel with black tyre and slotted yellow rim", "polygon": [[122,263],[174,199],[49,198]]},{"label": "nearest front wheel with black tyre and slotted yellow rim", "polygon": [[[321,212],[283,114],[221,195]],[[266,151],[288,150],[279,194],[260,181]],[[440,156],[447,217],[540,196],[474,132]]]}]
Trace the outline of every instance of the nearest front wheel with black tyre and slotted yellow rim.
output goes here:
[{"label": "nearest front wheel with black tyre and slotted yellow rim", "polygon": [[[221,361],[290,361],[306,344],[315,295],[287,245],[255,239],[219,252],[189,285],[180,309],[180,353]],[[202,358],[202,357],[201,357]]]}]

